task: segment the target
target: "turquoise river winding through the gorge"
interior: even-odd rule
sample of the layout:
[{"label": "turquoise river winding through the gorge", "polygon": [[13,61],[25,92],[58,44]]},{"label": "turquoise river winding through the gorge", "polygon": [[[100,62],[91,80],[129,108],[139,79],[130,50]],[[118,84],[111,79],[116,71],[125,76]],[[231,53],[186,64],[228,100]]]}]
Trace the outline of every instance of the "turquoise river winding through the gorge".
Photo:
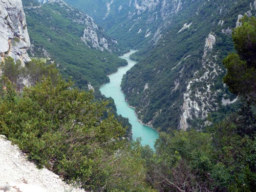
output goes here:
[{"label": "turquoise river winding through the gorge", "polygon": [[120,57],[125,59],[128,62],[128,65],[119,67],[115,74],[110,75],[110,82],[101,86],[100,92],[104,94],[105,97],[111,97],[114,99],[117,114],[129,118],[129,122],[132,124],[133,139],[141,137],[141,144],[143,146],[148,145],[154,149],[155,140],[159,137],[157,131],[151,127],[142,125],[138,121],[135,110],[129,107],[128,103],[125,102],[125,95],[121,91],[120,87],[123,75],[127,70],[136,64],[136,61],[130,59],[130,55],[135,52],[135,50],[131,50],[129,53],[126,53]]}]

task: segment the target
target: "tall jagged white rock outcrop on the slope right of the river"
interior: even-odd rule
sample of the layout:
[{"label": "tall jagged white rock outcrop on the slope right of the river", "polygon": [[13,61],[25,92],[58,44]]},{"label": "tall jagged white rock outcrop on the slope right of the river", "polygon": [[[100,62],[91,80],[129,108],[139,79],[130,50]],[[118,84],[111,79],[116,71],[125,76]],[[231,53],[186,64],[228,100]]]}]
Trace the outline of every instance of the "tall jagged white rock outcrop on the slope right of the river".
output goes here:
[{"label": "tall jagged white rock outcrop on the slope right of the river", "polygon": [[[193,116],[205,119],[209,112],[217,110],[216,106],[218,105],[215,101],[217,101],[219,90],[211,90],[210,87],[214,85],[214,80],[223,71],[216,63],[218,56],[211,54],[215,43],[216,37],[210,33],[205,40],[201,67],[187,83],[186,91],[183,94],[184,102],[181,106],[179,129],[186,130],[188,128],[187,120]],[[201,86],[199,87],[198,84]]]}]

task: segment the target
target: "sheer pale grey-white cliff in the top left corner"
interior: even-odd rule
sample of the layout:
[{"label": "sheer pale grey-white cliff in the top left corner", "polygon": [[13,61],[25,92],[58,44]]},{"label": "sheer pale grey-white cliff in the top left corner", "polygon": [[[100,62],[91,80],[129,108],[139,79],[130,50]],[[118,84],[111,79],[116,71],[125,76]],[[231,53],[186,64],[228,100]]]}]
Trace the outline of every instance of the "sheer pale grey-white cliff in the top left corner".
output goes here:
[{"label": "sheer pale grey-white cliff in the top left corner", "polygon": [[27,49],[30,39],[22,0],[0,0],[1,60],[10,56],[22,63],[30,61]]}]

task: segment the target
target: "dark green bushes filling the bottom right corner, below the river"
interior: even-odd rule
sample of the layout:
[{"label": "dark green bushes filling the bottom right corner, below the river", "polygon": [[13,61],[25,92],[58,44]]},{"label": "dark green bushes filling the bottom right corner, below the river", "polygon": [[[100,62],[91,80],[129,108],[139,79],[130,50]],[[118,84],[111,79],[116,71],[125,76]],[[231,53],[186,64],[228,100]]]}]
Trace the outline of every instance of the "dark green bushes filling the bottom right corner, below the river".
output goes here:
[{"label": "dark green bushes filling the bottom right corner, below the river", "polygon": [[256,116],[248,106],[208,128],[161,133],[144,148],[146,178],[158,191],[255,191]]}]

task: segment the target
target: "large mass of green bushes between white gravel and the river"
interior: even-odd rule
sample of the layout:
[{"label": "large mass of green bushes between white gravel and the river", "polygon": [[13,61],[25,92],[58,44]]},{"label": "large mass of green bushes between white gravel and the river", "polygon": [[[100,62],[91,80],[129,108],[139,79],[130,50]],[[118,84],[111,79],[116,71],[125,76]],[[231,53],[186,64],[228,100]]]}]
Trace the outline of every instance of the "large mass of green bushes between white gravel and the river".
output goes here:
[{"label": "large mass of green bushes between white gravel and the river", "polygon": [[142,147],[122,138],[126,130],[108,111],[107,102],[95,101],[93,92],[72,88],[53,65],[32,61],[26,70],[34,86],[23,91],[2,78],[1,134],[39,167],[87,190],[154,191],[145,182]]}]

